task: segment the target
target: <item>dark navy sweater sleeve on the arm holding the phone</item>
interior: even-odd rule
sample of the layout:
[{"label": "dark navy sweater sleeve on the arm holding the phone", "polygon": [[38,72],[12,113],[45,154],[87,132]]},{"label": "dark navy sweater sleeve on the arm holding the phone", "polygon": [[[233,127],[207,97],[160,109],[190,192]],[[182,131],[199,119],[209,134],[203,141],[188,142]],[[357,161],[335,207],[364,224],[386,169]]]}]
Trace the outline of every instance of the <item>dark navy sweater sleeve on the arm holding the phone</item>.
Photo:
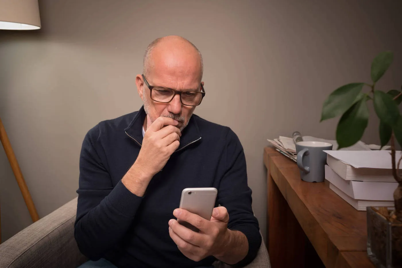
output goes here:
[{"label": "dark navy sweater sleeve on the arm holding the phone", "polygon": [[258,220],[252,211],[251,189],[247,184],[246,158],[237,135],[229,129],[226,135],[226,172],[219,184],[217,201],[229,213],[228,229],[247,237],[248,253],[238,265],[244,266],[256,257],[261,245]]}]

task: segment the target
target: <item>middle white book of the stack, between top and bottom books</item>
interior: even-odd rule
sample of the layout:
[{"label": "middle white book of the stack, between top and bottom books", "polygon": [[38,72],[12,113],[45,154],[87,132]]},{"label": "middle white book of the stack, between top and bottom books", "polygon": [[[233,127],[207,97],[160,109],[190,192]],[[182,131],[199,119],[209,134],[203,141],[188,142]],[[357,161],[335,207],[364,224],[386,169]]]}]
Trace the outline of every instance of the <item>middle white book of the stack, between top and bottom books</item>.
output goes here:
[{"label": "middle white book of the stack, between top and bottom books", "polygon": [[325,165],[325,179],[351,198],[359,200],[392,201],[398,187],[398,182],[344,180],[328,165]]}]

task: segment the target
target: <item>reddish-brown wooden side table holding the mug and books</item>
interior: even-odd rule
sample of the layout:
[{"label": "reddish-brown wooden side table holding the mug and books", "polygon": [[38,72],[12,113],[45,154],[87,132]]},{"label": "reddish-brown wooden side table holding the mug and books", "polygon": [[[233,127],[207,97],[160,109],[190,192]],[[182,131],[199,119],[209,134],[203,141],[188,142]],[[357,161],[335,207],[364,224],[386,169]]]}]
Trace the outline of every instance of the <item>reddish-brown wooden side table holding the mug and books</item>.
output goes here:
[{"label": "reddish-brown wooden side table holding the mug and books", "polygon": [[327,268],[374,268],[367,257],[366,212],[357,211],[322,183],[300,179],[295,162],[271,147],[267,247],[273,268],[304,267],[307,235]]}]

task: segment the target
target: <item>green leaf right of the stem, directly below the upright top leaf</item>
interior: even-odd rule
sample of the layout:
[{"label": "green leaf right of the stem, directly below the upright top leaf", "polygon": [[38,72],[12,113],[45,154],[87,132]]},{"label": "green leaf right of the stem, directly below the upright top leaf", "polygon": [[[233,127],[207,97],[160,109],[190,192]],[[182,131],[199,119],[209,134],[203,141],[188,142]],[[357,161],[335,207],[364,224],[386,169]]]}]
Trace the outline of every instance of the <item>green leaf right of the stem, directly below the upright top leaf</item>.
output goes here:
[{"label": "green leaf right of the stem, directly below the upright top leaf", "polygon": [[400,115],[398,106],[392,100],[391,95],[380,90],[374,90],[373,104],[379,119],[390,126],[394,126]]}]

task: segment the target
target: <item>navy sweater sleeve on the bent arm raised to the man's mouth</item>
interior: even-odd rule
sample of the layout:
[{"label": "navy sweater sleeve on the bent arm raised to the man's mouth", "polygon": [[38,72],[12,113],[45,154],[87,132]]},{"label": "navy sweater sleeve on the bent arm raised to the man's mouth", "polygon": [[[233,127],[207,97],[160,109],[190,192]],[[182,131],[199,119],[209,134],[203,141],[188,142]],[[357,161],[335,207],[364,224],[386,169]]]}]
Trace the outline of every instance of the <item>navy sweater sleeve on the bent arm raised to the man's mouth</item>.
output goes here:
[{"label": "navy sweater sleeve on the bent arm raised to the man's mouth", "polygon": [[99,134],[99,126],[92,128],[82,143],[74,224],[78,248],[91,260],[102,258],[121,241],[142,201],[121,180],[113,187]]}]

